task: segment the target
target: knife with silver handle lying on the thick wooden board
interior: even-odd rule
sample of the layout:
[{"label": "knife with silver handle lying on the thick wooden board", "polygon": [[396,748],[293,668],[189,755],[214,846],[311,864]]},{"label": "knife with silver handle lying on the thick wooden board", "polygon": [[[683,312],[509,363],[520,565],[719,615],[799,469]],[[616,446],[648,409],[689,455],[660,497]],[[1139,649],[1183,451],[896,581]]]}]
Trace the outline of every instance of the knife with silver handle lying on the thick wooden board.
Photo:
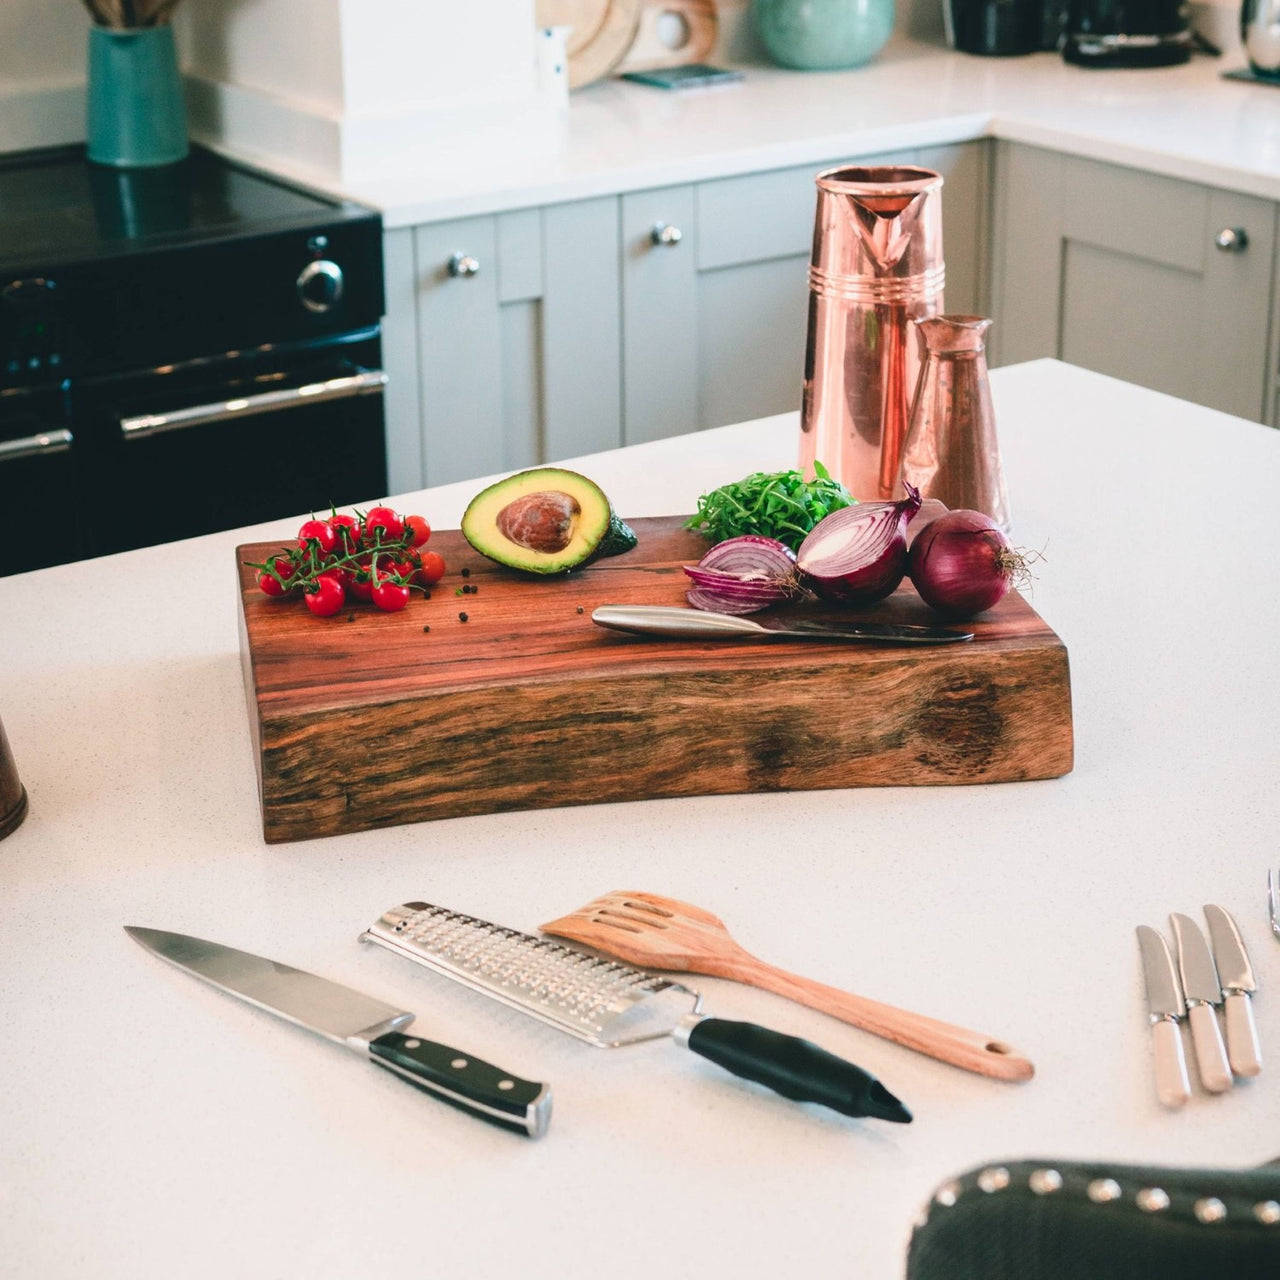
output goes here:
[{"label": "knife with silver handle lying on the thick wooden board", "polygon": [[863,640],[873,644],[954,644],[972,640],[972,631],[922,627],[909,622],[781,622],[745,618],[735,613],[684,609],[666,604],[602,604],[591,612],[596,626],[637,636],[668,640]]}]

